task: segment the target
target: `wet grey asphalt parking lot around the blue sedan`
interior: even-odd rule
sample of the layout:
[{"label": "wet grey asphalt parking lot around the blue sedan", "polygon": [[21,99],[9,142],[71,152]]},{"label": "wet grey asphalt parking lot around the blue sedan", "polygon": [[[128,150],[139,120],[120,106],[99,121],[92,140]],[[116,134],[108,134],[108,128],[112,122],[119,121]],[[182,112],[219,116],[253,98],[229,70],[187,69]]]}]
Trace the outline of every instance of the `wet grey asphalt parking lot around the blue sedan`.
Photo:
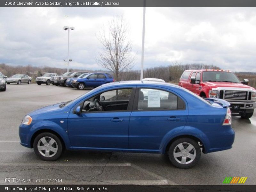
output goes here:
[{"label": "wet grey asphalt parking lot around the blue sedan", "polygon": [[[0,92],[0,184],[6,177],[62,179],[58,184],[221,185],[226,177],[256,179],[256,113],[250,120],[232,118],[233,148],[202,154],[190,169],[178,169],[159,154],[66,151],[55,162],[44,162],[33,149],[19,144],[18,127],[32,110],[72,100],[88,90],[55,85],[10,84]],[[24,183],[16,183],[24,184]],[[56,183],[57,184],[57,183]],[[227,184],[225,184],[227,185]],[[238,185],[238,184],[236,184]]]}]

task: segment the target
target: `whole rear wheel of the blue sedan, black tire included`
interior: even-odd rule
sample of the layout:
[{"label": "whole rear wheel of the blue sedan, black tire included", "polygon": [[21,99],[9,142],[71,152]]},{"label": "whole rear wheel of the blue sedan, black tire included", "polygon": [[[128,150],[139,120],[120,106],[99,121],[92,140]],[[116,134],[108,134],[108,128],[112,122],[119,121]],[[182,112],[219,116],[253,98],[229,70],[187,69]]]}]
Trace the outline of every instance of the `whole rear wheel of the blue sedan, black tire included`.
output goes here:
[{"label": "whole rear wheel of the blue sedan, black tire included", "polygon": [[[186,151],[188,147],[190,148],[190,150]],[[176,157],[174,157],[174,153],[179,153],[179,154],[176,154]],[[183,158],[184,156],[185,158]],[[198,163],[200,156],[201,156],[201,149],[198,143],[195,140],[190,138],[177,139],[172,142],[172,144],[168,149],[169,160],[175,167],[178,167],[178,168],[187,169],[187,168],[193,167]]]}]

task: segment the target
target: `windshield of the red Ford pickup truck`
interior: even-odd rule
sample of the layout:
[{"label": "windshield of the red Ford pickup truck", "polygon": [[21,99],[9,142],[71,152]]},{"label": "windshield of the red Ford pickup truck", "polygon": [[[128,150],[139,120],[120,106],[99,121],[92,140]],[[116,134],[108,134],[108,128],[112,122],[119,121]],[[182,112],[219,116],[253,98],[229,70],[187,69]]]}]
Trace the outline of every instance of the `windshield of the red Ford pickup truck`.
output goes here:
[{"label": "windshield of the red Ford pickup truck", "polygon": [[225,71],[204,71],[203,81],[240,83],[234,73]]}]

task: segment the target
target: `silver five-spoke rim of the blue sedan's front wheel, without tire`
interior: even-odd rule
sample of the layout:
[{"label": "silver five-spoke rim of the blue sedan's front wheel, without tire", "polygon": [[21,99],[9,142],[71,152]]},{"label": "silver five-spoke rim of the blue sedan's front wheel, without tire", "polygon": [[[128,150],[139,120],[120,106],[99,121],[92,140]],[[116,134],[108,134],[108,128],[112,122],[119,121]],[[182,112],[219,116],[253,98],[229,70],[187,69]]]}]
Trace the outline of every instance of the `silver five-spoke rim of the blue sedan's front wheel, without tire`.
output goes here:
[{"label": "silver five-spoke rim of the blue sedan's front wheel, without tire", "polygon": [[37,143],[37,149],[42,156],[52,157],[58,151],[58,144],[51,137],[42,137]]}]

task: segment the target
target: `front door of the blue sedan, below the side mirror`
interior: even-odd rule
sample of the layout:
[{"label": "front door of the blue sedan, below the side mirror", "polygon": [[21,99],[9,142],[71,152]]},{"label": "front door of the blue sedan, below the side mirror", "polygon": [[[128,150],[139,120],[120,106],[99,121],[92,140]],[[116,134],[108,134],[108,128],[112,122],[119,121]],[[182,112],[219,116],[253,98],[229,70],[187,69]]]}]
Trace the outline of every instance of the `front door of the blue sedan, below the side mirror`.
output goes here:
[{"label": "front door of the blue sedan, below the side mirror", "polygon": [[[124,95],[130,92],[131,94]],[[135,90],[134,90],[135,92]],[[128,128],[131,115],[133,89],[116,89],[106,91],[106,100],[118,101],[117,95],[129,101],[123,110],[88,111],[87,104],[94,102],[97,94],[84,102],[84,110],[80,115],[71,113],[68,116],[68,135],[73,148],[128,148]],[[134,95],[134,93],[133,93]]]}]

